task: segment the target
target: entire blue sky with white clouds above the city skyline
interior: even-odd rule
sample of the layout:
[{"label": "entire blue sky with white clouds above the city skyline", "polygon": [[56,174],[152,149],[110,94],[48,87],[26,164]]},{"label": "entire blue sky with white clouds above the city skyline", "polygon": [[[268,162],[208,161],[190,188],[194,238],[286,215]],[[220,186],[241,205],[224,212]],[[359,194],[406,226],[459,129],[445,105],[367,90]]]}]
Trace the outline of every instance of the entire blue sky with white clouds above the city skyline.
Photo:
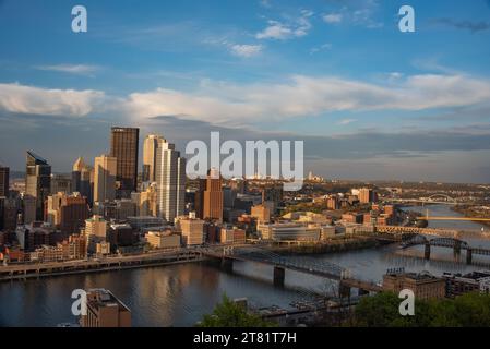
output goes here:
[{"label": "entire blue sky with white clouds above the city skyline", "polygon": [[302,140],[328,179],[490,182],[489,0],[0,0],[0,44],[12,170],[32,149],[70,171],[128,125],[182,153]]}]

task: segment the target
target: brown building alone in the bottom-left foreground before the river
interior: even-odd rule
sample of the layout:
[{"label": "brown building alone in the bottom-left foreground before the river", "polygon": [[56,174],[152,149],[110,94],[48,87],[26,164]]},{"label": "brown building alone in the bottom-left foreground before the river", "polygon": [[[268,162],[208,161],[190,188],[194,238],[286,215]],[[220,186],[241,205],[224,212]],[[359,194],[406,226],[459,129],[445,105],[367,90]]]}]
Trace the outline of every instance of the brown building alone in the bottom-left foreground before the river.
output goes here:
[{"label": "brown building alone in the bottom-left foreground before the river", "polygon": [[131,327],[131,311],[110,291],[91,289],[86,292],[86,315],[82,327]]}]

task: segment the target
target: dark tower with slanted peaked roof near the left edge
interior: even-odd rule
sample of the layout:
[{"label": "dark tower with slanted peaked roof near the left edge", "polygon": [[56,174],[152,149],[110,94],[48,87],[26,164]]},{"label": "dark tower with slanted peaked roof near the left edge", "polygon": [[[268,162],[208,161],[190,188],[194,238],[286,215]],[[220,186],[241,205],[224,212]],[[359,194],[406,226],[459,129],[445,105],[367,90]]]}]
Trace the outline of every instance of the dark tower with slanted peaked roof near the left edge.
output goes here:
[{"label": "dark tower with slanted peaked roof near the left edge", "polygon": [[[35,200],[35,220],[44,220],[45,202],[51,189],[51,166],[40,156],[27,152],[25,171],[25,196]],[[28,218],[32,218],[29,213]]]}]

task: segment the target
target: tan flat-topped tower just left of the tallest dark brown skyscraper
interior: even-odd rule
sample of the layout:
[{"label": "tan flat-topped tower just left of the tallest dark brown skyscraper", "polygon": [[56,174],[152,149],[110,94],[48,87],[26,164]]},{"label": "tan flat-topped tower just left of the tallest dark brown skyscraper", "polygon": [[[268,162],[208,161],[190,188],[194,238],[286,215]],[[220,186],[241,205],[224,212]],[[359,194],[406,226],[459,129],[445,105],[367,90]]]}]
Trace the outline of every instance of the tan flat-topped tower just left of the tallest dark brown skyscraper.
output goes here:
[{"label": "tan flat-topped tower just left of the tallest dark brown skyscraper", "polygon": [[100,155],[94,163],[94,202],[104,203],[116,198],[117,159]]}]

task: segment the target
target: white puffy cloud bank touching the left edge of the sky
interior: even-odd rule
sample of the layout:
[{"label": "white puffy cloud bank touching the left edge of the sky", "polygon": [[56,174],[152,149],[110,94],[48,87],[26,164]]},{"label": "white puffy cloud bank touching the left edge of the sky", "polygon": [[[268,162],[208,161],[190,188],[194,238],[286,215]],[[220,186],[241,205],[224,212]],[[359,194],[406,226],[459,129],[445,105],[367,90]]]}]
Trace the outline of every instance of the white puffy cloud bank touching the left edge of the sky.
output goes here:
[{"label": "white puffy cloud bank touching the left edge of the sky", "polygon": [[34,115],[83,117],[104,101],[103,92],[47,89],[20,84],[0,84],[0,109]]}]

